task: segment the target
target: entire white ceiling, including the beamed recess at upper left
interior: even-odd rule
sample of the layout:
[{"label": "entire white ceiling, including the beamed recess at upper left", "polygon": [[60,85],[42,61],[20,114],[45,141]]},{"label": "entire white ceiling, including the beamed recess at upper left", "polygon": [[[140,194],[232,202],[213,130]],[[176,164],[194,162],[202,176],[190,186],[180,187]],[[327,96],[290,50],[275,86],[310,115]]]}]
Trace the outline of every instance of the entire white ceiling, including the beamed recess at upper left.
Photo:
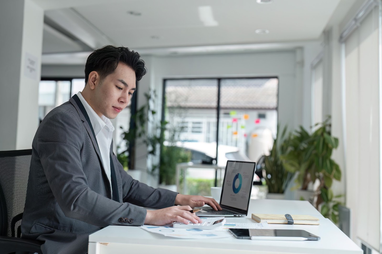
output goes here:
[{"label": "entire white ceiling, including the beamed recess at upper left", "polygon": [[[149,54],[298,47],[319,40],[327,24],[355,1],[360,0],[273,0],[263,5],[256,0],[34,0],[53,28],[44,29],[45,55],[89,52],[105,44]],[[204,26],[199,6],[210,6],[217,26]],[[270,32],[260,35],[256,29]]]}]

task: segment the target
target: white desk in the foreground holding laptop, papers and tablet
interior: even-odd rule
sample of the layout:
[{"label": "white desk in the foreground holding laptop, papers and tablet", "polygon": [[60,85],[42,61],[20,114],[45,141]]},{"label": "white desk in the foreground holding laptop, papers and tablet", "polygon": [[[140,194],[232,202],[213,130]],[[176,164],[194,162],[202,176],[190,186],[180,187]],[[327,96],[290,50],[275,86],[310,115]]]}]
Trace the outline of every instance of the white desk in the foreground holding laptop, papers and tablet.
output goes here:
[{"label": "white desk in the foreground holding laptop, papers and tablet", "polygon": [[[139,227],[109,226],[89,236],[89,254],[232,254],[232,253],[312,253],[362,254],[363,251],[308,201],[251,199],[251,213],[307,214],[318,217],[320,225],[269,224],[275,229],[303,229],[320,236],[319,241],[256,241],[229,238],[191,240],[150,233]],[[227,222],[254,223],[251,214],[244,218],[227,217]],[[255,222],[256,223],[256,222]]]}]

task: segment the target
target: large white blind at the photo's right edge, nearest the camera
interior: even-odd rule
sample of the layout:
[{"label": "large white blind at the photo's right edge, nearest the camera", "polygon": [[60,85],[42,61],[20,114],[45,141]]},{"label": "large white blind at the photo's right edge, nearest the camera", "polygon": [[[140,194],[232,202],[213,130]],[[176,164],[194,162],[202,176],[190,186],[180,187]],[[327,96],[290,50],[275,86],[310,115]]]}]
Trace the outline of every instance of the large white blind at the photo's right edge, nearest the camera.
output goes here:
[{"label": "large white blind at the photo's right edge, nearest the camera", "polygon": [[378,10],[345,41],[346,205],[353,240],[380,248]]}]

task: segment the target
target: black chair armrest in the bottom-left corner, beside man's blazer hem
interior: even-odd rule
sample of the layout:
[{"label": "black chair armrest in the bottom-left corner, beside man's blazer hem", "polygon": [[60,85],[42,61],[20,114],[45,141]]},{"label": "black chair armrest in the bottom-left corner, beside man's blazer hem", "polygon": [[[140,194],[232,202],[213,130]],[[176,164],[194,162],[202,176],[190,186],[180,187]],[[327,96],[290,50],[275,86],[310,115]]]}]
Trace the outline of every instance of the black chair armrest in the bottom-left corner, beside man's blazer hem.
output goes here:
[{"label": "black chair armrest in the bottom-left corner, beside man's blazer hem", "polygon": [[29,240],[18,237],[0,236],[0,254],[8,254],[15,251],[41,252],[41,244],[44,241]]}]

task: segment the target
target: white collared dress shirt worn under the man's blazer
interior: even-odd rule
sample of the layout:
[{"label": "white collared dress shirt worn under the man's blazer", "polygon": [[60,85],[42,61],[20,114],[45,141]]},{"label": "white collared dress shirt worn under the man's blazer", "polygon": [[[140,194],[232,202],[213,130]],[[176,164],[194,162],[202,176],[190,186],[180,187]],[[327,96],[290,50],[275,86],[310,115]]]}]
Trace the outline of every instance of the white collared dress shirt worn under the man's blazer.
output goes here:
[{"label": "white collared dress shirt worn under the man's blazer", "polygon": [[97,113],[95,113],[94,109],[92,109],[89,103],[87,103],[87,101],[82,96],[81,92],[78,92],[77,96],[84,105],[86,113],[89,116],[90,122],[92,124],[95,137],[97,138],[99,151],[101,152],[101,158],[104,164],[104,169],[106,171],[107,178],[110,182],[111,190],[112,181],[110,177],[110,146],[112,144],[114,126],[110,119],[108,119],[105,116],[100,117],[99,115],[97,115]]}]

